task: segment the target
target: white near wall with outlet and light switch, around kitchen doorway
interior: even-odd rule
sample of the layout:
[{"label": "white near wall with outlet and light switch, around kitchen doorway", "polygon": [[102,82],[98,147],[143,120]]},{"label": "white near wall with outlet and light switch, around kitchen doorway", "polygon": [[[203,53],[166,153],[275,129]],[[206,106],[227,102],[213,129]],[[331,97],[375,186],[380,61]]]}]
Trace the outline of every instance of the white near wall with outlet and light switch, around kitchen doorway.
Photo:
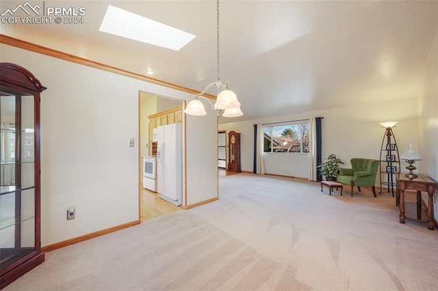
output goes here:
[{"label": "white near wall with outlet and light switch, around kitchen doorway", "polygon": [[[192,94],[5,44],[0,52],[0,61],[27,68],[48,88],[41,96],[42,246],[138,220],[138,91],[181,100]],[[201,168],[196,161],[185,168],[187,193],[189,201],[190,195],[203,201],[217,196],[217,174],[207,170],[217,169],[217,141],[204,138],[216,137],[216,118],[188,119],[185,126],[188,154],[202,161]],[[66,221],[71,206],[76,218]]]}]

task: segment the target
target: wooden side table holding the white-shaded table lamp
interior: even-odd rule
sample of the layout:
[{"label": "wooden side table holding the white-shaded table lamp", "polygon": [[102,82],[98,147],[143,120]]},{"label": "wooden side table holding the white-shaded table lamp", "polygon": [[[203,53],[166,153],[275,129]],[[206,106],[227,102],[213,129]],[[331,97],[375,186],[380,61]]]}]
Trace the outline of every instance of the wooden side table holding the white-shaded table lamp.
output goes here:
[{"label": "wooden side table holding the white-shaded table lamp", "polygon": [[417,220],[422,218],[422,200],[421,192],[427,192],[428,197],[428,208],[427,208],[427,227],[429,230],[434,230],[435,223],[433,221],[433,194],[435,193],[435,186],[437,183],[428,178],[424,174],[417,174],[418,178],[409,179],[404,176],[404,173],[399,173],[396,175],[397,180],[397,197],[396,204],[400,208],[400,223],[404,223],[406,216],[404,215],[404,190],[414,190],[417,191]]}]

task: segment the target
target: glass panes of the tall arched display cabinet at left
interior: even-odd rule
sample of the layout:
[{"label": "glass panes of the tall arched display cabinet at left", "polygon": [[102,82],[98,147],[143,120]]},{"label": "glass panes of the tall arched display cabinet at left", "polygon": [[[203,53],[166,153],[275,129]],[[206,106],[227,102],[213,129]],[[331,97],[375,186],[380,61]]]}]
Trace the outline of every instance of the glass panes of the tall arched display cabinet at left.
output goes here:
[{"label": "glass panes of the tall arched display cabinet at left", "polygon": [[35,250],[34,96],[2,87],[0,113],[0,269],[3,269]]}]

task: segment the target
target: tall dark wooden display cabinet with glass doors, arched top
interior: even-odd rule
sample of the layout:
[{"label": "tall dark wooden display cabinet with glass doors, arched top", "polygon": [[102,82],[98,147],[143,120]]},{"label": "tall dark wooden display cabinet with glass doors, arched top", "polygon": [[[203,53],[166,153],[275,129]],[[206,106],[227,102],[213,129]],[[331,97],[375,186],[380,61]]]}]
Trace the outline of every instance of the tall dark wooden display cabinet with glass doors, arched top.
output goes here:
[{"label": "tall dark wooden display cabinet with glass doors, arched top", "polygon": [[40,249],[40,92],[31,72],[0,63],[0,288],[44,262]]}]

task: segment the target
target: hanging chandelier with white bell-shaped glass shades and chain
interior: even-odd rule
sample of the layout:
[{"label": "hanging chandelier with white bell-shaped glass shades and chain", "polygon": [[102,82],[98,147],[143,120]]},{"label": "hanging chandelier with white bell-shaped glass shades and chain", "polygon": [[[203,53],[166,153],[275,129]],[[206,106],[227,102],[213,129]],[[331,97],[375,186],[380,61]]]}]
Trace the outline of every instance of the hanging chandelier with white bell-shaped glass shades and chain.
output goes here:
[{"label": "hanging chandelier with white bell-shaped glass shades and chain", "polygon": [[[189,102],[184,112],[196,116],[207,114],[203,103],[199,100],[199,98],[203,98],[209,102],[211,109],[216,111],[218,115],[223,113],[222,116],[224,117],[236,117],[244,114],[240,110],[240,102],[237,100],[235,93],[229,89],[228,82],[220,80],[219,77],[219,0],[216,0],[216,12],[216,81],[207,85],[202,92],[195,94],[194,99]],[[208,98],[203,96],[209,87],[213,85],[216,85],[218,88],[218,97],[214,105]]]}]

